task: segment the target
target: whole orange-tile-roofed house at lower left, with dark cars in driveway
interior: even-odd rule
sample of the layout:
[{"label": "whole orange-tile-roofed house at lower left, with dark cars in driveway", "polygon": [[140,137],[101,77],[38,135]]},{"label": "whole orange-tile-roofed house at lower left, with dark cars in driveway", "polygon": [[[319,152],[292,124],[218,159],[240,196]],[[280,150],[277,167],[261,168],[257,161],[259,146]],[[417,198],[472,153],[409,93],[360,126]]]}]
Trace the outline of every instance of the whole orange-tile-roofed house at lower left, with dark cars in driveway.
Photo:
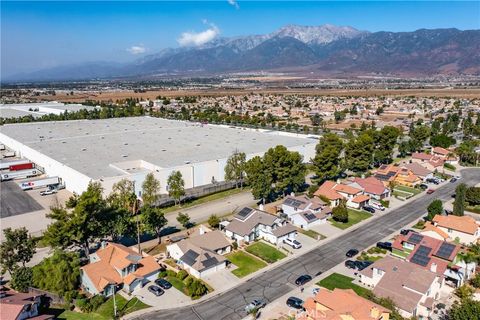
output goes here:
[{"label": "whole orange-tile-roofed house at lower left, with dark cars in driveway", "polygon": [[80,268],[82,289],[107,297],[122,288],[131,293],[157,279],[159,272],[154,257],[113,242],[91,254],[90,263]]}]

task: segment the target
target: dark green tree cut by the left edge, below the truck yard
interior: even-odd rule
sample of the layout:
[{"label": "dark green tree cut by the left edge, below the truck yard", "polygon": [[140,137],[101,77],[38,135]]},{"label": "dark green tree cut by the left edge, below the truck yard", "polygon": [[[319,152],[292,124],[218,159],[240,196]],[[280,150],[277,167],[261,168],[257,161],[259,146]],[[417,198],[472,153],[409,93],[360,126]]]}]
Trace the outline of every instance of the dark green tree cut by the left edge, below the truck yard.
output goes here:
[{"label": "dark green tree cut by the left edge, below the truck yard", "polygon": [[2,274],[8,271],[13,275],[19,264],[25,264],[32,259],[36,252],[36,241],[25,227],[19,229],[6,228],[3,230],[4,241],[0,244],[0,266]]}]

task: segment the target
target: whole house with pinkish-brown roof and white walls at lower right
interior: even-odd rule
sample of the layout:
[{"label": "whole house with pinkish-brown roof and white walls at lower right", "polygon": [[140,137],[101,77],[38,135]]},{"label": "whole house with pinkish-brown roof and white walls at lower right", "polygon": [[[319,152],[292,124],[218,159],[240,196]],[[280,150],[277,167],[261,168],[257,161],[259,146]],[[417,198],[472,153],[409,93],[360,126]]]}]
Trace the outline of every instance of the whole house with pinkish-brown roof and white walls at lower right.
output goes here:
[{"label": "whole house with pinkish-brown roof and white walls at lower right", "polygon": [[428,319],[445,285],[435,272],[392,256],[377,260],[359,275],[376,296],[392,299],[405,318]]}]

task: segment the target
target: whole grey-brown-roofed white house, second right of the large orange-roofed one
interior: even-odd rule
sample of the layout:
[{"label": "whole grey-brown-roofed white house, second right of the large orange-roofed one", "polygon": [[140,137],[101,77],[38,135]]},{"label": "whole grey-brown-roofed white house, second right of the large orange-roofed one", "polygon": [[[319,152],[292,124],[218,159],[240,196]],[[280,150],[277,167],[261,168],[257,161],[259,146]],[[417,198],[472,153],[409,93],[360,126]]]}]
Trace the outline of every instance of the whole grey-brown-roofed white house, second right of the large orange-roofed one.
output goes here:
[{"label": "whole grey-brown-roofed white house, second right of the large orange-roofed one", "polygon": [[243,208],[232,221],[225,223],[224,230],[228,238],[239,244],[264,239],[279,245],[283,240],[297,236],[297,229],[285,219],[249,207]]}]

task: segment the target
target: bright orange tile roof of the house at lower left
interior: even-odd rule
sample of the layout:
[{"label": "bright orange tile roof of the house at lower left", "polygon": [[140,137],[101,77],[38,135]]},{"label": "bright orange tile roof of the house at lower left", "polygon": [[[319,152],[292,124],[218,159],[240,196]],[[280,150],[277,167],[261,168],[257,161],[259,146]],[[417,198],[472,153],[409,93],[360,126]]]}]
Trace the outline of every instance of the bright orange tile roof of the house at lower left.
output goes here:
[{"label": "bright orange tile roof of the house at lower left", "polygon": [[[160,265],[152,256],[143,257],[132,249],[118,243],[109,242],[105,248],[98,250],[95,254],[99,260],[89,263],[80,269],[88,276],[98,292],[102,292],[109,284],[124,283],[127,277],[127,281],[133,282],[133,276],[141,278],[160,270]],[[137,269],[125,278],[122,278],[121,270],[132,263],[137,265]]]}]

